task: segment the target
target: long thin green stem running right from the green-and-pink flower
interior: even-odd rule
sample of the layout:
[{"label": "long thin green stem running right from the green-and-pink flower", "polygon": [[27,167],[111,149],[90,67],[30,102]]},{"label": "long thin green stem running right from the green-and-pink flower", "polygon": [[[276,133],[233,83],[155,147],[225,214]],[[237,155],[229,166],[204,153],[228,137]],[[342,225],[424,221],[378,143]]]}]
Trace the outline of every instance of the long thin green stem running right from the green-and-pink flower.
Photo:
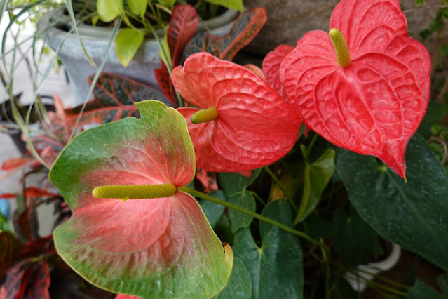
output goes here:
[{"label": "long thin green stem running right from the green-and-pink flower", "polygon": [[264,221],[266,223],[269,223],[270,225],[275,225],[276,227],[278,227],[278,228],[280,228],[282,230],[285,230],[286,232],[290,232],[291,234],[295,234],[295,235],[297,235],[297,236],[299,236],[301,238],[304,238],[304,239],[310,241],[311,243],[313,243],[313,244],[315,244],[317,246],[322,246],[327,251],[329,251],[329,248],[328,248],[328,246],[326,244],[323,244],[323,243],[321,243],[319,241],[315,241],[315,239],[309,237],[307,234],[304,234],[303,232],[299,232],[298,230],[294,230],[293,228],[291,228],[291,227],[289,227],[287,225],[284,225],[283,223],[277,222],[276,220],[272,220],[271,218],[264,217],[263,215],[259,215],[257,213],[252,212],[252,211],[249,211],[249,210],[247,210],[245,208],[241,208],[240,206],[236,206],[235,204],[231,204],[231,203],[229,203],[227,201],[223,201],[221,199],[217,199],[216,197],[212,197],[212,196],[210,196],[208,194],[196,191],[196,190],[191,189],[191,188],[186,187],[186,186],[179,187],[179,188],[177,188],[177,190],[182,191],[182,192],[186,192],[186,193],[188,193],[188,194],[190,194],[190,195],[192,195],[194,197],[201,197],[201,199],[212,201],[215,204],[220,204],[222,206],[225,206],[227,208],[231,208],[231,209],[233,209],[235,211],[238,211],[240,213],[244,213],[246,215],[250,215],[253,218],[257,218],[258,220],[262,220],[262,221]]}]

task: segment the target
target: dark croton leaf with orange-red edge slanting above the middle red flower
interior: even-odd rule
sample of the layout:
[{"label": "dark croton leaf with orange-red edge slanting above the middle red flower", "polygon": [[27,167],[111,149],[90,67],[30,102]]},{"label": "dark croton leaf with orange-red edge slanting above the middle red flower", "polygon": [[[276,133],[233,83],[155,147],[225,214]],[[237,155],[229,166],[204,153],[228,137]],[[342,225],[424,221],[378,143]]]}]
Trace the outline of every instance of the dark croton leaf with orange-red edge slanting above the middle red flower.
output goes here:
[{"label": "dark croton leaf with orange-red edge slanting above the middle red flower", "polygon": [[208,32],[196,34],[186,45],[184,57],[198,52],[209,52],[219,59],[233,60],[236,53],[257,36],[267,20],[264,8],[245,11],[233,22],[230,32],[223,36],[214,36]]}]

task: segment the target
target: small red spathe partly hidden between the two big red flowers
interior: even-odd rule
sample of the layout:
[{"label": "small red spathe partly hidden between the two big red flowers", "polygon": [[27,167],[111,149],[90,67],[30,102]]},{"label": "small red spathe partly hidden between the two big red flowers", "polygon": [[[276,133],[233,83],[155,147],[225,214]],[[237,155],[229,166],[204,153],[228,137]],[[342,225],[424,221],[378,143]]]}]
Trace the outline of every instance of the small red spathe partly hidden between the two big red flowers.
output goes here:
[{"label": "small red spathe partly hidden between the two big red flowers", "polygon": [[266,76],[266,82],[268,82],[274,91],[277,91],[279,95],[283,96],[283,98],[286,98],[287,95],[283,88],[283,82],[280,81],[280,64],[283,58],[291,53],[292,50],[294,48],[289,45],[277,46],[273,51],[264,56],[262,63],[262,70],[264,76]]}]

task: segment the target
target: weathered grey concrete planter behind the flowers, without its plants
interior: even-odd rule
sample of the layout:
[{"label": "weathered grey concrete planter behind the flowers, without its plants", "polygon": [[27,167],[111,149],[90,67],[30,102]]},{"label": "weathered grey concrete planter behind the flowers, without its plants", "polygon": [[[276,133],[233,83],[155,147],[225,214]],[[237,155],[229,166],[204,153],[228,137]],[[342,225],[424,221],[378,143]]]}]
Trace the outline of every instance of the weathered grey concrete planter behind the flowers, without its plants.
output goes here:
[{"label": "weathered grey concrete planter behind the flowers, without its plants", "polygon": [[[210,29],[210,32],[215,35],[224,35],[231,29],[233,20],[237,17],[237,11],[227,11],[217,18],[205,21],[205,26]],[[52,11],[41,18],[39,27],[49,28],[45,30],[44,38],[48,46],[54,51],[57,51],[60,44],[59,53],[57,54],[62,60],[63,65],[67,71],[70,85],[74,92],[74,102],[65,102],[65,107],[74,107],[83,103],[88,97],[88,90],[90,86],[87,84],[87,78],[91,74],[95,74],[100,65],[104,54],[107,51],[107,45],[111,39],[112,30],[104,27],[92,27],[88,25],[80,25],[79,33],[86,47],[90,58],[93,59],[96,67],[93,67],[88,62],[86,55],[84,55],[79,43],[79,38],[76,34],[67,34],[67,30],[62,27],[54,27],[55,22],[67,24],[69,27],[69,18],[64,15],[62,10]],[[200,26],[198,30],[203,29]],[[135,57],[130,62],[128,67],[123,67],[115,55],[114,48],[111,48],[107,55],[107,62],[104,65],[104,72],[113,72],[121,74],[142,84],[158,88],[156,77],[154,76],[154,69],[160,67],[160,58],[158,56],[159,46],[156,39],[147,39],[144,44],[140,46]],[[90,98],[90,97],[89,97]]]}]

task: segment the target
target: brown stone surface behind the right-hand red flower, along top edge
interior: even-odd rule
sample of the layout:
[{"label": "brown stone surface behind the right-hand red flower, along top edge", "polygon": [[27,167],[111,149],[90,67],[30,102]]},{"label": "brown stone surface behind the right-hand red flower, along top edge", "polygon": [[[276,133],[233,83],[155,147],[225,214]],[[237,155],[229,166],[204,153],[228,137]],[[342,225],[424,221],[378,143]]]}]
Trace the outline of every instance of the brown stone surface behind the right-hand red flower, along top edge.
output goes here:
[{"label": "brown stone surface behind the right-hand red flower, along top edge", "polygon": [[[338,0],[247,0],[245,6],[264,6],[268,21],[248,50],[266,54],[280,44],[295,46],[297,41],[310,30],[328,31],[328,23]],[[428,27],[440,8],[440,0],[427,0],[416,7],[414,0],[400,1],[404,7],[409,33],[419,39],[419,32]],[[448,30],[447,30],[448,31]],[[448,40],[448,34],[445,34]],[[431,48],[431,39],[426,42]]]}]

